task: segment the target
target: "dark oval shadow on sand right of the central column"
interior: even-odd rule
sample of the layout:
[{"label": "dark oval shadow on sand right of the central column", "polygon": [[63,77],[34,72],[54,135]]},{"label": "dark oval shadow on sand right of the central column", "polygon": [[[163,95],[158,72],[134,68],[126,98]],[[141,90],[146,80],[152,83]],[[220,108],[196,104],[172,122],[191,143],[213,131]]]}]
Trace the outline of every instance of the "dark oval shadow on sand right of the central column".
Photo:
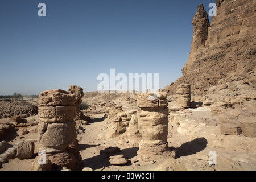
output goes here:
[{"label": "dark oval shadow on sand right of the central column", "polygon": [[187,156],[196,154],[197,152],[200,152],[204,150],[207,146],[207,139],[204,137],[194,139],[192,141],[186,142],[181,144],[180,147],[170,147],[171,150],[176,151],[177,158],[180,158],[181,156]]}]

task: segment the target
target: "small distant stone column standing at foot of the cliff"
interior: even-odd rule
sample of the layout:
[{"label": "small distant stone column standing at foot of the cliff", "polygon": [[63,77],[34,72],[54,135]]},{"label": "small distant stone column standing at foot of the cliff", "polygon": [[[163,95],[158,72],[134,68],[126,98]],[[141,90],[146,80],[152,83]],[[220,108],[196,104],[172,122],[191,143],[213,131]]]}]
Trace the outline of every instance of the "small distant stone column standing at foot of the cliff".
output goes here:
[{"label": "small distant stone column standing at foot of the cliff", "polygon": [[176,105],[183,108],[189,108],[191,100],[190,85],[180,84],[176,88]]}]

